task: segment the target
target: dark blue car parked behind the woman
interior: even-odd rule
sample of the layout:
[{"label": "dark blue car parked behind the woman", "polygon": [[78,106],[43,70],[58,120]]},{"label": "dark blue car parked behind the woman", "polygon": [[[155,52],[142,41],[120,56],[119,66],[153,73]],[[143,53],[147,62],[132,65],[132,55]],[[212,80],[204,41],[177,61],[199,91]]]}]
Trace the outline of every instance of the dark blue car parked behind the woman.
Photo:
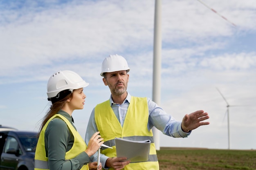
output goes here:
[{"label": "dark blue car parked behind the woman", "polygon": [[37,132],[0,131],[0,170],[34,170]]}]

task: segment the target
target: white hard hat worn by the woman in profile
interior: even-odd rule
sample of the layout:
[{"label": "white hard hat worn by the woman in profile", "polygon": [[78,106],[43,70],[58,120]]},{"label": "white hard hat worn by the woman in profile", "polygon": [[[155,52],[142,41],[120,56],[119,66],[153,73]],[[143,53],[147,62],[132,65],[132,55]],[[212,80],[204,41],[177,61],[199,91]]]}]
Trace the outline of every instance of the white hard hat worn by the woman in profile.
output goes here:
[{"label": "white hard hat worn by the woman in profile", "polygon": [[55,97],[64,90],[79,89],[88,86],[89,83],[85,82],[80,75],[74,71],[58,71],[54,73],[47,83],[47,96],[48,98]]}]

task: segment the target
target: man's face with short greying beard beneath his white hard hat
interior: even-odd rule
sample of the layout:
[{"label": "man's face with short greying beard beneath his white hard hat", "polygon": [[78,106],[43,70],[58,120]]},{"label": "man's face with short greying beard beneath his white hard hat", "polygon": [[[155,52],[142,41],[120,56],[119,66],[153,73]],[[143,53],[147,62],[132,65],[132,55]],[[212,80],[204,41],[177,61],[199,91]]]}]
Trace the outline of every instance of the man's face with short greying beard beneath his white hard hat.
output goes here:
[{"label": "man's face with short greying beard beneath his white hard hat", "polygon": [[122,95],[126,92],[129,75],[126,70],[105,73],[103,82],[110,88],[112,95]]}]

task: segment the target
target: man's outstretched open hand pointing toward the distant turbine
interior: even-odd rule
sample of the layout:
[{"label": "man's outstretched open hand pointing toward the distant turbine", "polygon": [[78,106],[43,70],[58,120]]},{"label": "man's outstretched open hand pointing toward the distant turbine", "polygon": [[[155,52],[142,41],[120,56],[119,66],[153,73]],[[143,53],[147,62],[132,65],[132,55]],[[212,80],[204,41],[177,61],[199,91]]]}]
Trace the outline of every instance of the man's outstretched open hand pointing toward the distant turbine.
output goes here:
[{"label": "man's outstretched open hand pointing toward the distant turbine", "polygon": [[199,126],[210,124],[209,121],[204,122],[206,119],[209,119],[209,116],[204,110],[198,110],[189,115],[186,114],[182,119],[181,128],[184,132],[189,132]]}]

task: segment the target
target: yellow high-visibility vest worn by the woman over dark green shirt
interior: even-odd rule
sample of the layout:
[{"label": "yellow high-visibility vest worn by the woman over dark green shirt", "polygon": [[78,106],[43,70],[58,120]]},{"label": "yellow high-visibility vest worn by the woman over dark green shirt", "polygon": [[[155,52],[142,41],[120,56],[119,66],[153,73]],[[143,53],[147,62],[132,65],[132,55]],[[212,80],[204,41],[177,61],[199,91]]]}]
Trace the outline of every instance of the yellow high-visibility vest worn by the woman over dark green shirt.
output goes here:
[{"label": "yellow high-visibility vest worn by the woman over dark green shirt", "polygon": [[[79,135],[79,133],[76,131],[76,129],[72,126],[72,124],[63,115],[55,114],[46,122],[45,126],[40,132],[40,136],[36,146],[36,153],[35,153],[35,170],[49,170],[48,157],[46,157],[46,152],[45,152],[45,130],[49,122],[55,117],[59,117],[63,121],[65,121],[68,128],[72,132],[72,135],[74,136],[74,144],[72,148],[66,152],[65,160],[67,161],[69,159],[72,159],[87,149],[85,141],[83,140],[81,135]],[[84,165],[81,168],[81,170],[89,170],[88,163]]]}]

